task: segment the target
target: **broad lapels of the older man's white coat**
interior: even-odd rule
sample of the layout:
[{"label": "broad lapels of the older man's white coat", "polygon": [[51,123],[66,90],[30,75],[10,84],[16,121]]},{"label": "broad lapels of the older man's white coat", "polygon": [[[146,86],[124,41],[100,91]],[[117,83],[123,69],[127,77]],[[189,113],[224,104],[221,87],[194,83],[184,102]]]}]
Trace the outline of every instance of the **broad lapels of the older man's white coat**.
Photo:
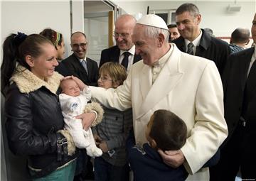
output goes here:
[{"label": "broad lapels of the older man's white coat", "polygon": [[[175,47],[175,49],[177,48]],[[151,85],[151,87],[149,84],[149,81],[152,81],[151,67],[147,68],[150,71],[142,71],[144,72],[144,75],[141,76],[140,82],[144,101],[142,102],[142,107],[139,111],[137,119],[146,114],[149,109],[153,108],[156,104],[158,104],[161,99],[166,97],[166,95],[169,94],[172,89],[174,89],[176,84],[178,84],[179,80],[183,76],[183,72],[179,70],[178,62],[179,55],[177,54],[177,51],[174,50],[173,53],[171,53],[169,60],[167,60],[166,65],[164,65],[159,76],[156,78],[154,84]]]}]

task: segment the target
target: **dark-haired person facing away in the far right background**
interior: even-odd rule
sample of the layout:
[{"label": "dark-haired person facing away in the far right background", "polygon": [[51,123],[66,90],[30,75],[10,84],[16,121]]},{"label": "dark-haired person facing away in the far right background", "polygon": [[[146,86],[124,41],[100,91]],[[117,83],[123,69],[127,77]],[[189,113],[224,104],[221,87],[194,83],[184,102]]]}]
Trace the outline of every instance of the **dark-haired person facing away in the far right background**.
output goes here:
[{"label": "dark-haired person facing away in the far right background", "polygon": [[230,38],[231,53],[244,50],[250,42],[250,30],[248,28],[236,28]]}]

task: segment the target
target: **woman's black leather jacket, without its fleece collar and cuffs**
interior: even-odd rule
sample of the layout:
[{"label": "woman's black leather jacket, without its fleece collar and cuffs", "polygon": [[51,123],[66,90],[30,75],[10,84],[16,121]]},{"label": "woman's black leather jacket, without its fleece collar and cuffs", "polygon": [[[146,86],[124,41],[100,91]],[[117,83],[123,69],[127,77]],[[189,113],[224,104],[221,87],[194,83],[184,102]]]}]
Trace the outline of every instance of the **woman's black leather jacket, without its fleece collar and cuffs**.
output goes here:
[{"label": "woman's black leather jacket, without its fleece collar and cuffs", "polygon": [[64,121],[58,96],[46,87],[21,93],[16,83],[11,84],[6,92],[5,116],[9,148],[15,155],[28,156],[32,168],[42,169],[35,177],[48,175],[76,157],[57,161],[57,140],[64,138],[57,131],[63,129]]}]

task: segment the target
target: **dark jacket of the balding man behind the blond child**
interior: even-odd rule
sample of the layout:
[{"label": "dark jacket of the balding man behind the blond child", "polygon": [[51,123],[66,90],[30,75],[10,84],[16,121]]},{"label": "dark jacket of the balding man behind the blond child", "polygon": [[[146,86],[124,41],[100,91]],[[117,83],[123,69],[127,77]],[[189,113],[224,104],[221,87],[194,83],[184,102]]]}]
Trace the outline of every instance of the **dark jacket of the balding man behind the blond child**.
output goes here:
[{"label": "dark jacket of the balding man behind the blond child", "polygon": [[[119,55],[120,55],[120,49],[117,45],[107,48],[105,50],[102,50],[102,53],[100,55],[100,65],[102,66],[105,62],[119,62]],[[136,63],[139,60],[142,60],[142,57],[140,55],[134,55],[134,62]]]}]

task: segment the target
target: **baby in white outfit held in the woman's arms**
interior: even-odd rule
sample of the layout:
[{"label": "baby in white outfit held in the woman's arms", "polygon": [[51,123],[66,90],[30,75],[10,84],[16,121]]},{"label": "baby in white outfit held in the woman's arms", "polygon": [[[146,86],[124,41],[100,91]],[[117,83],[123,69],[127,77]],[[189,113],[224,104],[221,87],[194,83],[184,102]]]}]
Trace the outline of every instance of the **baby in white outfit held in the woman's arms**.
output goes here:
[{"label": "baby in white outfit held in the woman's arms", "polygon": [[[73,137],[75,146],[85,148],[87,155],[90,155],[90,157],[102,155],[102,150],[95,145],[91,128],[85,131],[82,128],[82,120],[75,119],[75,116],[84,112],[85,106],[90,106],[90,104],[87,104],[91,99],[90,90],[86,88],[80,90],[78,84],[73,79],[63,79],[60,82],[60,88],[62,89],[62,93],[59,95],[59,99],[64,116],[65,128]],[[92,107],[92,109],[95,109],[94,106]],[[95,113],[97,111],[99,112],[99,110],[95,110]]]}]

